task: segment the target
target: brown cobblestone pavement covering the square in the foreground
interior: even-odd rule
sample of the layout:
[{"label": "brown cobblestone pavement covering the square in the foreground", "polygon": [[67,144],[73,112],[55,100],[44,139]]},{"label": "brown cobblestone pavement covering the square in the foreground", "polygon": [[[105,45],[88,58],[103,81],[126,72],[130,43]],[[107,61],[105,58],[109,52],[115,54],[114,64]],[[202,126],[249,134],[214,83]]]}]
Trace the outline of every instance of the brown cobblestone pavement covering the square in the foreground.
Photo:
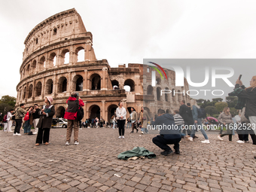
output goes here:
[{"label": "brown cobblestone pavement covering the square in the foreground", "polygon": [[[80,145],[66,146],[66,129],[50,130],[50,145],[35,147],[36,136],[0,132],[1,191],[256,191],[256,148],[219,141],[210,135],[182,139],[181,154],[160,155],[153,134],[117,130],[79,130]],[[133,147],[145,147],[155,159],[118,160]]]}]

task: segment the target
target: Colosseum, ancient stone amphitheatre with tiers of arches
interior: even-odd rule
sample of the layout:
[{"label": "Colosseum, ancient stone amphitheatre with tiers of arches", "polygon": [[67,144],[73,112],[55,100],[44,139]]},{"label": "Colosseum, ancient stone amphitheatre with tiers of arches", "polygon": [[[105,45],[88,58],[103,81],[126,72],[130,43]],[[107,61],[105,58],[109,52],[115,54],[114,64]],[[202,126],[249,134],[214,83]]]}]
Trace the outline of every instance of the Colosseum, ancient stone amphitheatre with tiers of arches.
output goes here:
[{"label": "Colosseum, ancient stone amphitheatre with tiers of arches", "polygon": [[[160,96],[161,89],[188,90],[185,79],[184,87],[173,86],[175,72],[171,70],[166,69],[169,82],[161,82],[157,74],[157,85],[152,87],[150,77],[154,69],[146,65],[123,64],[111,68],[107,59],[97,60],[93,35],[87,32],[75,8],[39,23],[24,44],[17,105],[25,103],[26,108],[35,103],[41,106],[45,96],[52,96],[56,117],[63,117],[66,100],[71,93],[78,92],[85,103],[84,118],[102,116],[109,120],[120,100],[129,111],[131,107],[140,111],[144,106],[153,117],[159,107],[172,112],[181,99],[190,99],[181,94]],[[143,79],[147,80],[145,86]]]}]

